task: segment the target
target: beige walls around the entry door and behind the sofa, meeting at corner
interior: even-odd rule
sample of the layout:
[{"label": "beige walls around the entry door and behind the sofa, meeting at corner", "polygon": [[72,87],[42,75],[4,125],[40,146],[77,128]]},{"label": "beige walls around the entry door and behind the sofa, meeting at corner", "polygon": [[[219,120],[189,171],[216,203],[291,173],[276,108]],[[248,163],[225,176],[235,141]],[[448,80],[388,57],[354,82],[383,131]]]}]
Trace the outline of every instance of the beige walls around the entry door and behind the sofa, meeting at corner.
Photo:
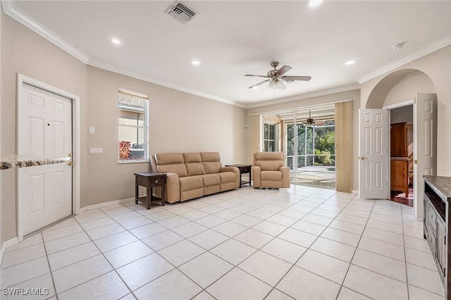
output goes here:
[{"label": "beige walls around the entry door and behind the sofa, meeting at corner", "polygon": [[[81,207],[135,196],[133,173],[148,163],[118,163],[118,88],[148,93],[150,153],[218,151],[244,163],[245,109],[85,65],[1,15],[1,154],[16,154],[16,74],[80,96]],[[95,134],[89,134],[89,127]],[[89,154],[101,147],[104,154]],[[74,163],[76,163],[74,161]],[[1,244],[16,237],[16,171],[1,170]]]}]

